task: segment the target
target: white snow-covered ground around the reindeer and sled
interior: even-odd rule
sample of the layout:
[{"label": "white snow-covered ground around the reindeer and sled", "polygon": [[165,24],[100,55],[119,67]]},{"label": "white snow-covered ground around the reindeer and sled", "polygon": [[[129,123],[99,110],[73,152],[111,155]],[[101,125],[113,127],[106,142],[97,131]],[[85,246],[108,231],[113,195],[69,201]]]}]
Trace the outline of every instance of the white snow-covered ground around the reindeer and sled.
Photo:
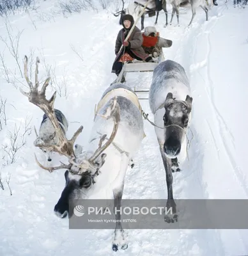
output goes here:
[{"label": "white snow-covered ground around the reindeer and sled", "polygon": [[[190,28],[187,28],[191,18],[189,9],[180,16],[180,27],[175,25],[174,17],[173,25],[164,28],[162,12],[156,26],[162,37],[173,40],[172,47],[164,49],[164,54],[166,59],[177,61],[185,68],[193,97],[190,128],[194,138],[189,161],[183,164],[182,172],[173,173],[176,199],[248,198],[245,168],[248,115],[244,112],[248,97],[248,9],[233,8],[231,2],[225,4],[220,0],[218,3],[219,6],[209,11],[207,22],[199,8]],[[10,15],[8,26],[13,36],[24,29],[19,42],[22,70],[24,55],[30,56],[31,48],[35,50],[34,56],[40,57],[41,81],[47,77],[45,66],[52,65],[51,74],[56,74],[61,88],[61,97],[57,95],[55,106],[69,120],[68,138],[80,125],[84,126],[78,137],[84,145],[91,130],[95,104],[116,78],[111,74],[111,67],[116,35],[121,29],[119,17],[101,10],[65,18],[52,10],[56,10],[53,1],[41,2],[37,13]],[[8,38],[4,21],[0,18],[0,35]],[[144,25],[153,26],[154,21],[155,17],[146,17]],[[137,26],[141,27],[140,22]],[[0,255],[116,255],[111,248],[113,230],[69,230],[68,220],[55,216],[54,205],[65,185],[64,170],[49,173],[36,165],[34,152],[45,163],[45,157],[33,146],[33,125],[39,127],[43,113],[19,92],[19,87],[27,90],[26,81],[1,41],[0,52],[4,52],[6,67],[16,72],[19,80],[15,80],[15,88],[6,83],[1,73],[0,95],[7,99],[7,125],[2,121],[1,145],[10,143],[9,131],[13,131],[15,125],[17,128],[20,125],[20,145],[26,118],[31,120],[32,128],[30,136],[24,136],[26,145],[18,150],[15,163],[6,165],[9,161],[6,152],[0,152],[4,186],[4,190],[0,188]],[[151,76],[128,74],[127,84],[148,87]],[[10,80],[13,80],[11,74]],[[49,97],[51,87],[48,92]],[[141,104],[152,118],[148,101],[143,100]],[[146,138],[134,158],[134,169],[127,172],[123,198],[166,198],[165,171],[155,132],[148,122],[144,121],[144,125]],[[54,165],[59,160],[56,157]],[[10,173],[12,196],[5,181]],[[247,230],[127,232],[128,248],[117,253],[130,256],[248,254]]]}]

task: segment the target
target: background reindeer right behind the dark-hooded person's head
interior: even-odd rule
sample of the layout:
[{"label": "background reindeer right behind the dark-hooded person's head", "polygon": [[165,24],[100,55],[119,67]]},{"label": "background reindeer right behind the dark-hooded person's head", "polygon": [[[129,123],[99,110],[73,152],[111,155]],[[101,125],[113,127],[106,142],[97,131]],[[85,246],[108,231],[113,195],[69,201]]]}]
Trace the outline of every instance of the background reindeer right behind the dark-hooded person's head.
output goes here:
[{"label": "background reindeer right behind the dark-hooded person's head", "polygon": [[[134,17],[134,20],[136,20],[137,17],[139,16],[139,14],[141,13],[141,11],[143,10],[144,4],[146,4],[146,3],[147,3],[147,1],[144,1],[144,0],[143,0],[143,4],[134,1],[134,3],[128,4],[126,9],[124,9],[124,5],[123,5],[122,10],[120,12],[114,14],[114,16],[118,17],[118,15],[121,15],[120,21],[119,21],[120,25],[121,25],[121,18],[125,14],[132,15]],[[141,15],[141,30],[144,29],[144,15],[146,15],[148,13],[150,16],[153,16],[153,13],[156,12],[157,13],[157,17],[155,20],[155,25],[156,25],[157,21],[159,19],[159,12],[161,10],[164,10],[164,12],[166,13],[166,26],[167,26],[168,22],[167,22],[166,0],[153,0],[153,1],[151,1],[150,4],[151,4],[150,8],[146,7],[147,11],[145,11],[143,13],[143,15]]]}]

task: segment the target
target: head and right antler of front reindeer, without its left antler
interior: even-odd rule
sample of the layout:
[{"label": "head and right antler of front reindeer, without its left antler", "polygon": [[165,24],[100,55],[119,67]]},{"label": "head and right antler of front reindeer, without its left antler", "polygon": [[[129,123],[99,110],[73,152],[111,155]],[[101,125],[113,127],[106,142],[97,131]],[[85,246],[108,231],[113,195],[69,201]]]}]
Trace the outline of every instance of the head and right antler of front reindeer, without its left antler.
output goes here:
[{"label": "head and right antler of front reindeer, without its left antler", "polygon": [[[100,168],[105,163],[104,150],[111,144],[116,135],[120,122],[120,107],[117,99],[112,100],[111,106],[107,109],[104,118],[114,119],[114,128],[107,142],[102,146],[106,134],[100,138],[98,149],[89,159],[80,160],[80,164],[74,163],[70,170],[65,172],[65,188],[61,193],[58,203],[54,207],[54,212],[60,218],[69,216],[69,201],[87,198],[97,184],[97,176],[100,175]],[[70,216],[69,216],[70,218]]]}]

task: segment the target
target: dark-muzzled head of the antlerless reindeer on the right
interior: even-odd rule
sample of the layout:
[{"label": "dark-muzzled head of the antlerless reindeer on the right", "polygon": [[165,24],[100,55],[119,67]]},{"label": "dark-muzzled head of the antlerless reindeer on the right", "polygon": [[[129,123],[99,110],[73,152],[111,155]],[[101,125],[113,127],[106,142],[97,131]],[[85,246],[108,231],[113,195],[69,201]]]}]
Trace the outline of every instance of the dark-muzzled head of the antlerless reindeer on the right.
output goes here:
[{"label": "dark-muzzled head of the antlerless reindeer on the right", "polygon": [[168,93],[164,105],[164,153],[167,157],[176,157],[181,150],[183,140],[189,126],[192,109],[192,97],[187,95],[185,100],[174,100]]}]

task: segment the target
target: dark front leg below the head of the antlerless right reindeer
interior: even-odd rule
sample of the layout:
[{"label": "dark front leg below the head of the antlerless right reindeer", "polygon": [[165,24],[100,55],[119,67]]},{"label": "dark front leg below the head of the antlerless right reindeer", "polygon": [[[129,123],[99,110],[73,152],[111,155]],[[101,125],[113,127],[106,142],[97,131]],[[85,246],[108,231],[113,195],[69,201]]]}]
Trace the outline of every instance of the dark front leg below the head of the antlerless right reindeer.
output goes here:
[{"label": "dark front leg below the head of the antlerless right reindeer", "polygon": [[173,198],[173,176],[171,172],[171,159],[167,158],[164,154],[164,148],[162,145],[160,145],[160,154],[162,156],[162,160],[164,163],[164,168],[166,169],[166,184],[167,184],[167,210],[172,207],[173,214],[165,214],[164,221],[167,223],[174,223],[178,221],[178,215],[176,214],[176,203],[174,202]]}]

